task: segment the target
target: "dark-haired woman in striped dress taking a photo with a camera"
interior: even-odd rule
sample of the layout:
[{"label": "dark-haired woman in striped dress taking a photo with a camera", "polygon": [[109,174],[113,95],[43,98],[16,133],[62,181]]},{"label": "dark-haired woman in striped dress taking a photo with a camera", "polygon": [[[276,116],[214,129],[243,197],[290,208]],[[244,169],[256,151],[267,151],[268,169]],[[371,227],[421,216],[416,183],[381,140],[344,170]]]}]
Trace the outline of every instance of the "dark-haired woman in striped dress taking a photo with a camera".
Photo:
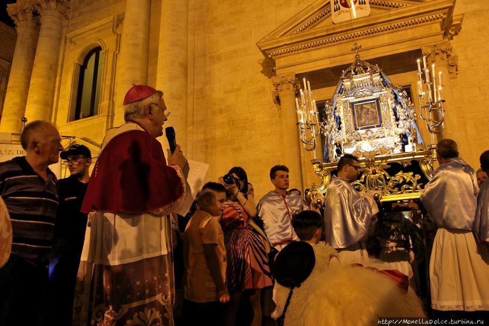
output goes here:
[{"label": "dark-haired woman in striped dress taking a photo with a camera", "polygon": [[233,184],[221,182],[228,191],[221,226],[226,246],[226,285],[231,302],[225,309],[226,325],[236,324],[236,315],[241,301],[249,301],[252,311],[250,325],[261,325],[260,291],[273,285],[263,238],[254,231],[249,220],[256,215],[253,196],[248,192],[248,177],[240,167],[229,171]]}]

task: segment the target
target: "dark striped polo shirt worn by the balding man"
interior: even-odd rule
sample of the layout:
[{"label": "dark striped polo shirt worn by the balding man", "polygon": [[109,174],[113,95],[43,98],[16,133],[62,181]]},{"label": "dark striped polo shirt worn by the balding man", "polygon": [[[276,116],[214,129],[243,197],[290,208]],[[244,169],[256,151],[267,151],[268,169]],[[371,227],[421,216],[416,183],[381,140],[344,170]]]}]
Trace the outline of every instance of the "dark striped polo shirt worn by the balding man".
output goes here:
[{"label": "dark striped polo shirt worn by the balding man", "polygon": [[0,195],[12,221],[12,253],[46,266],[58,209],[56,176],[48,170],[45,182],[25,156],[15,157],[0,163]]}]

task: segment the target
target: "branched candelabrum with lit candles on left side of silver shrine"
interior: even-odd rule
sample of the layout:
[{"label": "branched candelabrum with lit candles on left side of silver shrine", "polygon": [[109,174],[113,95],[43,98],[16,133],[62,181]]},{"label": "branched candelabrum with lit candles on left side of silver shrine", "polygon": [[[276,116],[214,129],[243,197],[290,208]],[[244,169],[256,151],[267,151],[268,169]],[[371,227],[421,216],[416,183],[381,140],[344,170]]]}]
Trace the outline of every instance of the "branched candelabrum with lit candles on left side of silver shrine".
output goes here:
[{"label": "branched candelabrum with lit candles on left side of silver shrine", "polygon": [[306,151],[312,151],[314,161],[316,157],[316,137],[319,133],[319,112],[316,101],[312,99],[311,85],[306,78],[303,79],[304,89],[300,89],[300,97],[295,98],[295,109],[297,113],[297,126],[301,142]]}]

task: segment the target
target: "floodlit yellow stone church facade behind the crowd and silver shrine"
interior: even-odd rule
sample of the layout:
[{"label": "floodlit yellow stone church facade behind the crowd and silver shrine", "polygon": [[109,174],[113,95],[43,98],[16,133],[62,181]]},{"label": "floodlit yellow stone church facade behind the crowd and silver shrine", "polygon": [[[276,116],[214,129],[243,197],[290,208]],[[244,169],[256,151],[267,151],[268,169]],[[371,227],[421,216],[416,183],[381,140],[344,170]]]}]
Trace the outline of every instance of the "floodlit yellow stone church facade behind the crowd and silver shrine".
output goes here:
[{"label": "floodlit yellow stone church facade behind the crowd and silver shrine", "polygon": [[442,71],[439,136],[477,168],[489,143],[489,2],[369,5],[369,15],[333,23],[328,0],[17,0],[0,131],[20,132],[24,116],[49,120],[97,153],[105,130],[123,123],[126,91],[147,84],[164,92],[168,125],[188,158],[210,165],[207,179],[241,166],[259,198],[270,167],[285,164],[291,187],[307,188],[320,180],[298,136],[296,84],[306,78],[317,102],[330,99],[357,43],[415,105],[416,60]]}]

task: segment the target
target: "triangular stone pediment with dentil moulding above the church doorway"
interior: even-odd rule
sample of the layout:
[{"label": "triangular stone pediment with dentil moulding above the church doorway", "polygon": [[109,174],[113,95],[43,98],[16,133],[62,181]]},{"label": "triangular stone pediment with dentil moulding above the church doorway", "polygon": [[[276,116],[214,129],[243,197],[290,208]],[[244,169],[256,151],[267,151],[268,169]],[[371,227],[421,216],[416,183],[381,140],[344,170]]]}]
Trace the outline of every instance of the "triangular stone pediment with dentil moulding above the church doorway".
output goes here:
[{"label": "triangular stone pediment with dentil moulding above the church doorway", "polygon": [[455,0],[369,2],[369,16],[333,24],[330,1],[317,0],[261,39],[257,46],[265,57],[276,58],[345,39],[408,29],[433,21],[439,22],[441,33],[448,39],[460,29],[462,16],[452,17]]}]

